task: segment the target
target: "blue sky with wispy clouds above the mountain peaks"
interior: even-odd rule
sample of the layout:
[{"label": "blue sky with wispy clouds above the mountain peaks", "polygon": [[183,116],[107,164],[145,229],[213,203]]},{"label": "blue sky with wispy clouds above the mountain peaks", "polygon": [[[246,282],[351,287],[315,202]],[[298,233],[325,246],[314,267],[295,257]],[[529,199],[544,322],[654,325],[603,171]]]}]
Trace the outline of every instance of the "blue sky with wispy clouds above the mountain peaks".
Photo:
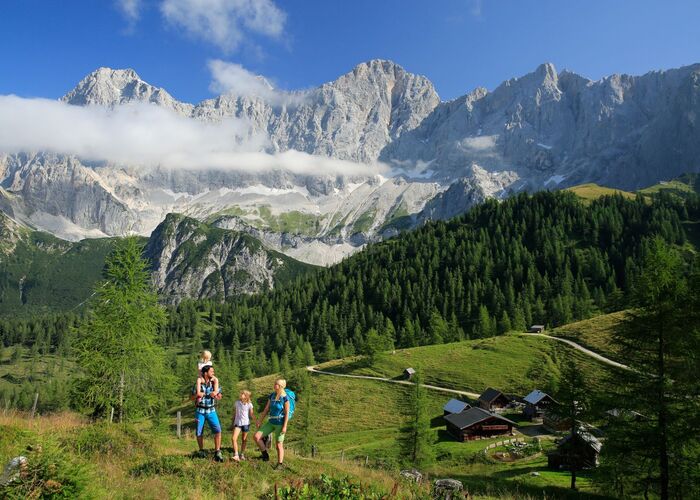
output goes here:
[{"label": "blue sky with wispy clouds above the mountain peaks", "polygon": [[197,102],[211,60],[300,89],[384,58],[451,99],[545,61],[592,79],[700,62],[698,20],[696,0],[6,0],[0,94],[56,98],[110,66]]}]

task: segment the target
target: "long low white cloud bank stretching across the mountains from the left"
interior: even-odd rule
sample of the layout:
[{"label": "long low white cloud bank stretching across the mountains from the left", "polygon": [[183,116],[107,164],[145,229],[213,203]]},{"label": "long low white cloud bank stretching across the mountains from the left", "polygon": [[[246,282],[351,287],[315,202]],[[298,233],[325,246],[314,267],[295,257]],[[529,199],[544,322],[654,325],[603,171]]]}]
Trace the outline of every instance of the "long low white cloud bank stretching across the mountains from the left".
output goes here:
[{"label": "long low white cloud bank stretching across the mountains from the left", "polygon": [[46,151],[129,166],[348,176],[388,170],[299,151],[266,153],[267,136],[245,120],[202,122],[145,103],[81,107],[0,96],[0,130],[3,153]]}]

